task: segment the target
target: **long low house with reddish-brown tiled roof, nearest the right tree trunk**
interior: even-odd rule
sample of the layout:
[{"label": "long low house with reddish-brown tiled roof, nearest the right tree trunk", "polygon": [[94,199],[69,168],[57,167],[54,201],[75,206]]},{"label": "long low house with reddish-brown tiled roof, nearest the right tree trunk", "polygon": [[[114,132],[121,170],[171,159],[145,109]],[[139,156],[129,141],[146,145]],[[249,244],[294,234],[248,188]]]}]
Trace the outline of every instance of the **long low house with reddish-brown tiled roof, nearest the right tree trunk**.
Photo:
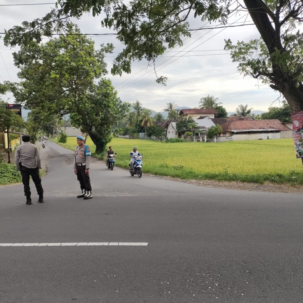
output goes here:
[{"label": "long low house with reddish-brown tiled roof, nearest the right tree trunk", "polygon": [[291,138],[292,130],[278,119],[228,121],[222,126],[222,136],[233,141]]}]

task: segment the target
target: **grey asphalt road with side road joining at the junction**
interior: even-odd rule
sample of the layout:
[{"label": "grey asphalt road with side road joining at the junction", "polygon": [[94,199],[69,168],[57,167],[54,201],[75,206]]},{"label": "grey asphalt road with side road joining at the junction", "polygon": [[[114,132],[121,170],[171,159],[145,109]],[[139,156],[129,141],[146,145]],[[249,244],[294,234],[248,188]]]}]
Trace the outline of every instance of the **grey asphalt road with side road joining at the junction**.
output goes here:
[{"label": "grey asphalt road with side road joining at the junction", "polygon": [[72,151],[47,141],[41,153],[45,203],[0,188],[0,243],[148,245],[0,246],[1,303],[303,302],[302,195],[138,179],[95,160],[85,201]]}]

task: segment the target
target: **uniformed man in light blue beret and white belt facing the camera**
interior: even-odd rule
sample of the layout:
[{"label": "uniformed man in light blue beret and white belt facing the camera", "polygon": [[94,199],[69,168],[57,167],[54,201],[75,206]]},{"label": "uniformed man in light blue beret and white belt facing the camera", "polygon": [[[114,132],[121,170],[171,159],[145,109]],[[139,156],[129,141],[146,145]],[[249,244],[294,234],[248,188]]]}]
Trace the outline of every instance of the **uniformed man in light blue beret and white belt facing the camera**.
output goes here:
[{"label": "uniformed man in light blue beret and white belt facing the camera", "polygon": [[74,172],[77,175],[80,182],[81,194],[77,198],[83,198],[85,200],[91,199],[92,187],[89,179],[89,165],[91,159],[91,151],[88,145],[84,144],[84,138],[77,136],[78,146],[75,148],[74,156]]}]

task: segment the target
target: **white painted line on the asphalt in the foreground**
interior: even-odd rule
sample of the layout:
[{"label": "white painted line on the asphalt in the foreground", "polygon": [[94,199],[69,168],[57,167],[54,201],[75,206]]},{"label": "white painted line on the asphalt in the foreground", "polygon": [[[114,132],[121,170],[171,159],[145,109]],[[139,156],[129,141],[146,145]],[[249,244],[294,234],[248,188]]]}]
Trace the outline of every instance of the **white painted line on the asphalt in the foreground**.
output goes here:
[{"label": "white painted line on the asphalt in the foreground", "polygon": [[0,246],[147,246],[148,242],[0,243]]}]

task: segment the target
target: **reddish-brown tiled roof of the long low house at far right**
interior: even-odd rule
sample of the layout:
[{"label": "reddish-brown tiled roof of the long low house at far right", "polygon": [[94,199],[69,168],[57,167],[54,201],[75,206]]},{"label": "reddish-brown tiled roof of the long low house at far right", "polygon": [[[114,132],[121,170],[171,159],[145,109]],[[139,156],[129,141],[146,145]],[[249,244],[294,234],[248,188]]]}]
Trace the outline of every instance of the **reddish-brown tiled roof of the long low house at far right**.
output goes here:
[{"label": "reddish-brown tiled roof of the long low house at far right", "polygon": [[272,131],[291,131],[285,124],[280,122],[278,119],[270,120],[238,120],[228,121],[222,125],[223,132],[245,132],[245,131],[261,131],[261,130],[272,130]]}]

